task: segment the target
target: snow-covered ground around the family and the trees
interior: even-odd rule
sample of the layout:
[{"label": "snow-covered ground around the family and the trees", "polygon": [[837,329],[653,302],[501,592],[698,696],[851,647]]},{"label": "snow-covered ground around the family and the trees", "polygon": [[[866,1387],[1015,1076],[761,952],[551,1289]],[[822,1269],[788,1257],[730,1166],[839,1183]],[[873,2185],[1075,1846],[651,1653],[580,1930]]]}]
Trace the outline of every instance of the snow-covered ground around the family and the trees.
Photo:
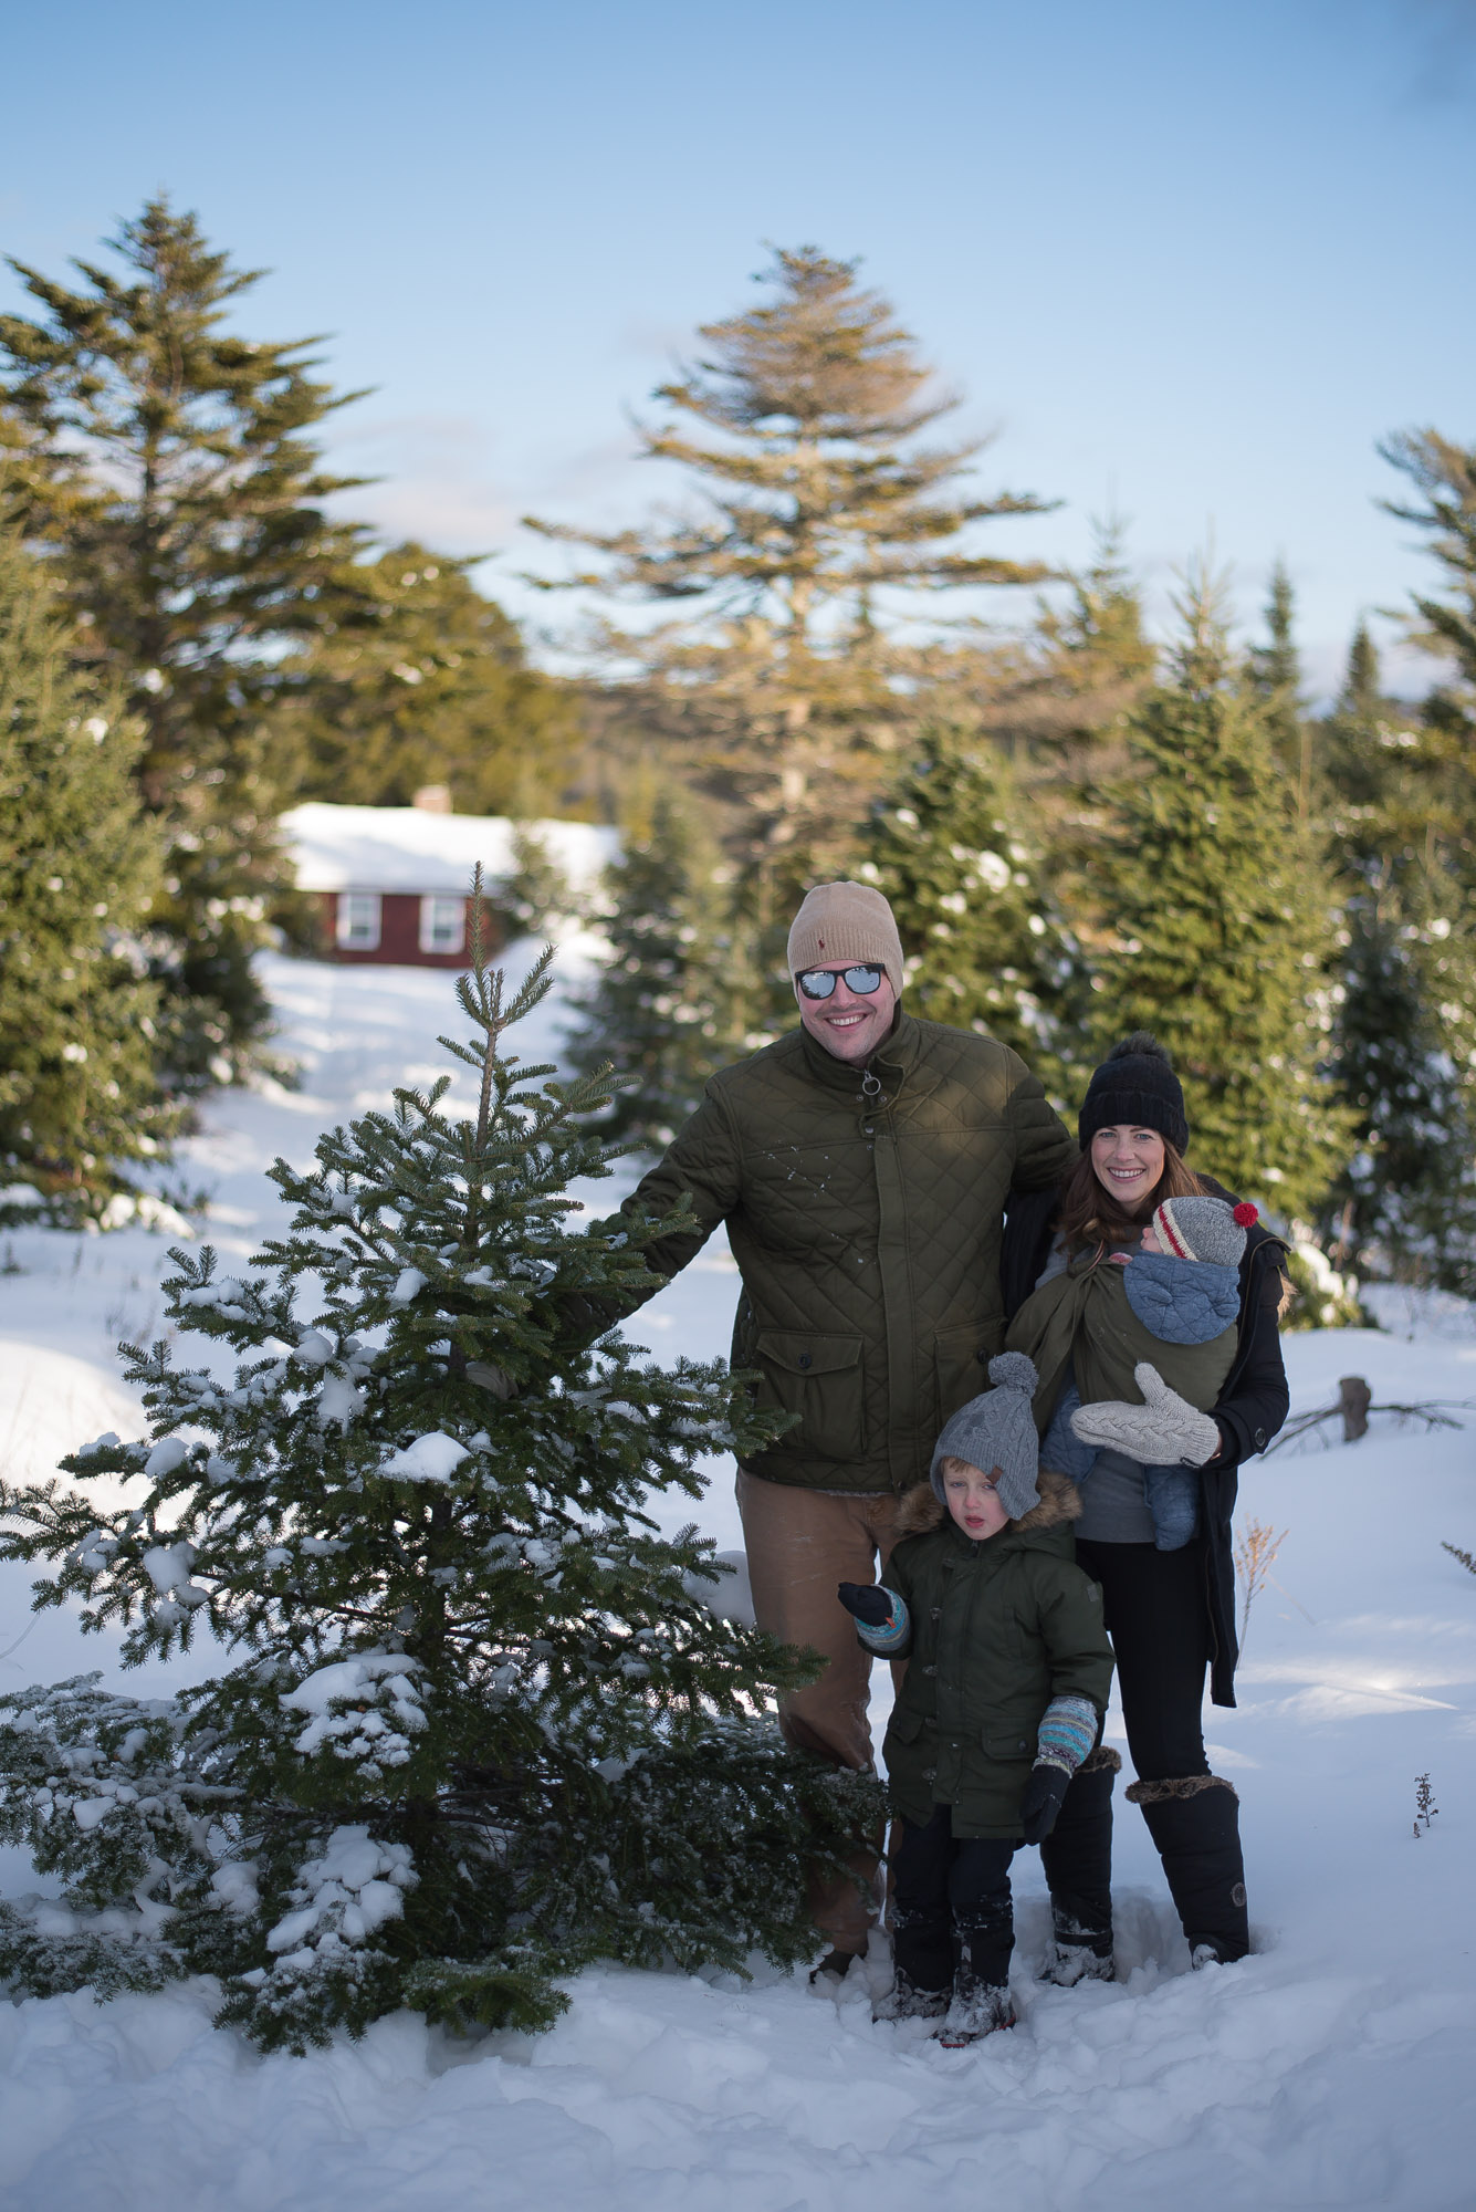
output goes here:
[{"label": "snow-covered ground around the family and the trees", "polygon": [[[517,953],[513,956],[517,958]],[[568,949],[566,973],[581,958]],[[276,1219],[265,1164],[442,1071],[451,980],[422,969],[274,962],[298,1091],[230,1095],[190,1146],[208,1237],[245,1259]],[[557,1051],[557,1006],[519,1042]],[[597,1186],[597,1203],[614,1186]],[[0,1453],[46,1473],[99,1429],[139,1431],[113,1345],[161,1316],[166,1239],[0,1237]],[[9,1259],[7,1259],[9,1252]],[[725,1250],[632,1334],[656,1356],[727,1347]],[[1385,1296],[1388,1334],[1288,1338],[1293,1409],[1363,1374],[1374,1400],[1476,1400],[1469,1307]],[[1476,1416],[1472,1416],[1476,1418]],[[672,1524],[692,1517],[678,1498]],[[731,1478],[703,1513],[738,1544]],[[1118,1803],[1111,1986],[1032,1980],[1045,1905],[1016,1860],[1021,2024],[946,2053],[919,2026],[873,2028],[802,1975],[588,1973],[539,2037],[453,2042],[415,2017],[305,2059],[261,2059],[210,2026],[188,1986],[106,2006],[0,2006],[0,2201],[15,2212],[1008,2212],[1134,2208],[1472,2208],[1476,2081],[1476,1429],[1374,1420],[1251,1467],[1242,1526],[1282,1535],[1255,1599],[1235,1712],[1211,1710],[1215,1765],[1242,1792],[1255,1958],[1191,1975],[1138,1814]],[[212,1670],[122,1677],[113,1639],[71,1615],[29,1626],[29,1571],[0,1571],[0,1686],[102,1666],[166,1688]],[[877,1670],[877,1694],[886,1672]],[[879,1708],[877,1708],[879,1712]],[[1114,1725],[1114,1723],[1109,1723]],[[1116,1725],[1120,1741],[1120,1725]],[[1419,1836],[1414,1783],[1438,1814]],[[1127,1776],[1125,1776],[1127,1778]],[[29,1887],[2,1854],[0,1882]]]}]

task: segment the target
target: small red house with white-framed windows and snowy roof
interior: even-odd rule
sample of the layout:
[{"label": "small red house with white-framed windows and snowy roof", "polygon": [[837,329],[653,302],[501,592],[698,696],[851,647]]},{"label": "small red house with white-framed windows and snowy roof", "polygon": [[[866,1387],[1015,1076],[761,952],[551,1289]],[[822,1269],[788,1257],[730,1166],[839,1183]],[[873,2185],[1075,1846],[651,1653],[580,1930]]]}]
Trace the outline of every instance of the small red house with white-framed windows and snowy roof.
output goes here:
[{"label": "small red house with white-framed windows and snowy roof", "polygon": [[[574,891],[590,889],[616,856],[614,830],[594,823],[526,823]],[[426,794],[413,807],[331,807],[283,814],[301,891],[323,911],[331,960],[382,967],[466,967],[471,872],[493,902],[513,874],[515,823],[499,814],[446,814]],[[488,951],[502,942],[493,918]]]}]

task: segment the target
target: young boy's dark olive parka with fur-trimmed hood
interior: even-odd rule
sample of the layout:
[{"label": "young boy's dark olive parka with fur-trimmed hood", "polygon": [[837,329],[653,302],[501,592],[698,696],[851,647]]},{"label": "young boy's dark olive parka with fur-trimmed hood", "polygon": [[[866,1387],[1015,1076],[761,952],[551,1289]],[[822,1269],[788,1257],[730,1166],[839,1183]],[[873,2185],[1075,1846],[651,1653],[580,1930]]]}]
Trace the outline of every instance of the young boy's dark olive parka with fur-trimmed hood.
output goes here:
[{"label": "young boy's dark olive parka with fur-trimmed hood", "polygon": [[926,1827],[952,1805],[955,1836],[1021,1840],[1021,1798],[1052,1697],[1111,1688],[1103,1593],[1072,1557],[1080,1495],[1041,1471],[1041,1504],[972,1542],[932,1489],[902,1502],[882,1582],[906,1599],[913,1637],[886,1730],[895,1809]]}]

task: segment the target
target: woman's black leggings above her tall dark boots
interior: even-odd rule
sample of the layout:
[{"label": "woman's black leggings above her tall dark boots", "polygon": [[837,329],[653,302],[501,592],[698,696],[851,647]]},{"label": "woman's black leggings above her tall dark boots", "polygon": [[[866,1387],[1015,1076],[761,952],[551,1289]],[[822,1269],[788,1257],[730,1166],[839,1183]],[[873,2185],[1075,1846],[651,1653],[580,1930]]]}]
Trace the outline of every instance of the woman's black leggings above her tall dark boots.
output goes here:
[{"label": "woman's black leggings above her tall dark boots", "polygon": [[1204,1756],[1204,1670],[1209,1666],[1209,1588],[1204,1544],[1182,1551],[1153,1544],[1076,1540],[1076,1564],[1103,1586],[1103,1617],[1118,1659],[1127,1747],[1138,1778],[1209,1774]]}]

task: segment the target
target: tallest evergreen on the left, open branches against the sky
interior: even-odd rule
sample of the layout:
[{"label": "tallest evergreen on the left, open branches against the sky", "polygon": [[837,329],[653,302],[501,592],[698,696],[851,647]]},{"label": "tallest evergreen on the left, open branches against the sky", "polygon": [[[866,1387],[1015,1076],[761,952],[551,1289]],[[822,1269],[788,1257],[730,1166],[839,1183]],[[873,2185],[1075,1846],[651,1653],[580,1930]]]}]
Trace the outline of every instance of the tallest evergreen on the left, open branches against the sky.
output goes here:
[{"label": "tallest evergreen on the left, open branches against the sky", "polygon": [[358,533],[329,524],[312,429],[345,405],[312,376],[316,341],[221,330],[259,279],[192,215],[144,206],[110,241],[122,274],[73,290],[13,261],[40,316],[0,316],[4,489],[53,555],[84,659],[144,728],[137,776],[172,854],[155,920],[177,1004],[177,1075],[239,1073],[270,1009],[250,956],[289,865],[267,710],[285,648],[323,619]]}]

